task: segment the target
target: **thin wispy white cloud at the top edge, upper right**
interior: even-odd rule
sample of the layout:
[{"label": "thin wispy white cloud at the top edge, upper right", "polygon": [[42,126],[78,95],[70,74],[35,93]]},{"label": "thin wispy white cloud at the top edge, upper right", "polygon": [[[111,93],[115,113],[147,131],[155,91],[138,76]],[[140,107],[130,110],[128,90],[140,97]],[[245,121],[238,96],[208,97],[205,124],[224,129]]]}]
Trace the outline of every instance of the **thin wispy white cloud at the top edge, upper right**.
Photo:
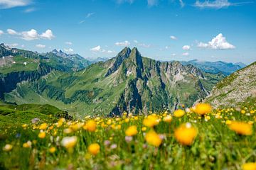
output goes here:
[{"label": "thin wispy white cloud at the top edge, upper right", "polygon": [[215,1],[199,1],[196,0],[196,3],[193,6],[198,8],[228,8],[229,6],[238,6],[242,4],[250,4],[252,1],[243,1],[238,3],[231,3],[228,0],[215,0]]}]

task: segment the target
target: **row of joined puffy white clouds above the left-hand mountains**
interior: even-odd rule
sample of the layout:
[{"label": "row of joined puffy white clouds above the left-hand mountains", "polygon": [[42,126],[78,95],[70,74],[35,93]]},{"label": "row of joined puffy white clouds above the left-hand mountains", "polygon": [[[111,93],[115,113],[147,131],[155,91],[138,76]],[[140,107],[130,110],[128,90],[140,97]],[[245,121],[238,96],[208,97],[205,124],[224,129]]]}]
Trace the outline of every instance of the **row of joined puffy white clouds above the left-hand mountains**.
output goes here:
[{"label": "row of joined puffy white clouds above the left-hand mountains", "polygon": [[7,33],[9,33],[9,35],[18,35],[18,37],[20,37],[23,40],[38,40],[38,39],[52,40],[55,37],[53,35],[52,30],[46,30],[46,32],[42,33],[41,35],[38,34],[37,30],[35,29],[22,31],[21,33],[16,32],[16,30],[7,29]]}]

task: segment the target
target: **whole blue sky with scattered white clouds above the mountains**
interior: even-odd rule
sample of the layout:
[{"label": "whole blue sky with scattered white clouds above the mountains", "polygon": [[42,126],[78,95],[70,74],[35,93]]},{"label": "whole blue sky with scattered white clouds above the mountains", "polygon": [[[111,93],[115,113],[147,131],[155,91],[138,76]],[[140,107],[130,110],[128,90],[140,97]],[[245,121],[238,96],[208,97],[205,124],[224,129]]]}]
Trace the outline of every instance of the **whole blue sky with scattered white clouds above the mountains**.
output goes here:
[{"label": "whole blue sky with scattered white clouds above the mountains", "polygon": [[256,60],[255,0],[0,0],[0,42],[38,52]]}]

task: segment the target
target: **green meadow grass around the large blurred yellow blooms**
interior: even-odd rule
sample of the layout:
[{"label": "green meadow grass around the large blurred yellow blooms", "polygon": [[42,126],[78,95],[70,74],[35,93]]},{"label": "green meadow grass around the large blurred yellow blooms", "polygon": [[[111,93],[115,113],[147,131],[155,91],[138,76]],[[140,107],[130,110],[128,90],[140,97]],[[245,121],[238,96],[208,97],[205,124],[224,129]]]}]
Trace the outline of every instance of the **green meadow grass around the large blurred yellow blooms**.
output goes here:
[{"label": "green meadow grass around the large blurred yellow blooms", "polygon": [[[21,106],[19,109],[25,108]],[[255,106],[242,109],[250,113]],[[216,118],[218,112],[222,118]],[[182,118],[174,117],[171,123],[161,121],[154,128],[163,137],[159,147],[149,145],[144,139],[144,133],[150,131],[150,128],[142,131],[144,116],[132,116],[129,122],[126,117],[95,118],[98,122],[96,132],[80,128],[70,134],[65,134],[63,130],[72,128],[77,121],[65,122],[57,127],[50,120],[45,120],[48,128],[43,139],[38,138],[38,127],[43,122],[28,124],[27,128],[9,125],[1,129],[0,148],[11,144],[13,149],[10,152],[0,150],[0,169],[241,169],[246,162],[256,162],[256,113],[246,113],[228,108],[208,114],[208,121],[196,113],[186,114]],[[162,120],[163,117],[164,114],[159,113],[158,118]],[[109,120],[112,123],[106,125]],[[225,124],[226,120],[254,123],[252,135],[236,134]],[[179,144],[174,137],[174,130],[187,122],[198,130],[191,146]],[[102,123],[106,127],[102,127]],[[53,128],[50,128],[52,125]],[[121,128],[113,128],[117,125],[121,125]],[[131,142],[126,142],[125,130],[129,125],[136,125],[138,134]],[[78,137],[77,144],[69,152],[60,145],[63,137],[67,136]],[[28,140],[33,142],[32,146],[24,148],[22,145]],[[110,145],[104,144],[107,140]],[[100,153],[96,156],[87,150],[92,143],[100,145]],[[56,152],[50,153],[50,147],[55,147]]]}]

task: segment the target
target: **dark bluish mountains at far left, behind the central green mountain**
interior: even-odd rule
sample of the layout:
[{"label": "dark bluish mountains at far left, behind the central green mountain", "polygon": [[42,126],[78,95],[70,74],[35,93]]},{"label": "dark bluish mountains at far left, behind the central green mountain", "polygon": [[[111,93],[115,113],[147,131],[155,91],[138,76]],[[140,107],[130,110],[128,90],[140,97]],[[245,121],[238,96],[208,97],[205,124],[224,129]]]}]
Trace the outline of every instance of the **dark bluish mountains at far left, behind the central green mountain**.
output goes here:
[{"label": "dark bluish mountains at far left, behind the central green mountain", "polygon": [[21,81],[36,81],[52,71],[73,72],[90,64],[79,55],[60,57],[49,52],[39,54],[0,44],[0,98],[16,89]]}]

